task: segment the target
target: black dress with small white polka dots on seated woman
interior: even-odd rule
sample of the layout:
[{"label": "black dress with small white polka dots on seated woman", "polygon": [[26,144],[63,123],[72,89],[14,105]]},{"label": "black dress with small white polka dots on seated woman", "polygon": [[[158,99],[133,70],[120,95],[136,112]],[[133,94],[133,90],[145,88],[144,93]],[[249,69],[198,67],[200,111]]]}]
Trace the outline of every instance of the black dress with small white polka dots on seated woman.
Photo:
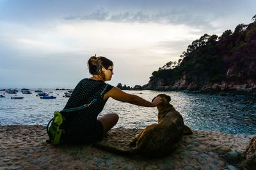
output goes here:
[{"label": "black dress with small white polka dots on seated woman", "polygon": [[[77,84],[64,109],[76,108],[91,103],[105,87],[106,83],[104,81],[84,78]],[[108,85],[104,94],[112,88],[113,86]],[[92,90],[95,92],[92,93]],[[87,108],[63,113],[65,117],[65,130],[61,138],[65,141],[76,143],[93,143],[103,138],[103,125],[97,120],[99,113],[108,101],[103,100],[103,95]]]}]

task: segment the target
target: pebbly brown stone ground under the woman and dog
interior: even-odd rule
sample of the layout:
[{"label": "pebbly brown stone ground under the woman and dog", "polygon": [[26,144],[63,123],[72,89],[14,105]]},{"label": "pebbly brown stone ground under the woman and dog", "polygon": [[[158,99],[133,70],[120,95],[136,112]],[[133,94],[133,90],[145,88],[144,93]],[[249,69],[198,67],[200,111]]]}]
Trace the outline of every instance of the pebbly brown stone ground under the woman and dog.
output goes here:
[{"label": "pebbly brown stone ground under the woman and dog", "polygon": [[[111,129],[100,141],[129,148],[141,129]],[[53,146],[42,125],[0,125],[0,169],[243,169],[241,162],[250,139],[246,134],[193,131],[182,136],[167,157],[125,157],[93,145]]]}]

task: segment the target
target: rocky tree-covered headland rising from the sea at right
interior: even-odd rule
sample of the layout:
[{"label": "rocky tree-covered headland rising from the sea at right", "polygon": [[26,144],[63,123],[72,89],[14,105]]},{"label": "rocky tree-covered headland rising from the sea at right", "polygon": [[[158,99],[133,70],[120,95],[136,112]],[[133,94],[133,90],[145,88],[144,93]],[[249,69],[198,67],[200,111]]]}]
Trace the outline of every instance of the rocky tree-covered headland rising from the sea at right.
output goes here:
[{"label": "rocky tree-covered headland rising from the sea at right", "polygon": [[256,15],[218,37],[204,34],[178,62],[154,71],[146,85],[131,90],[244,92],[256,95]]}]

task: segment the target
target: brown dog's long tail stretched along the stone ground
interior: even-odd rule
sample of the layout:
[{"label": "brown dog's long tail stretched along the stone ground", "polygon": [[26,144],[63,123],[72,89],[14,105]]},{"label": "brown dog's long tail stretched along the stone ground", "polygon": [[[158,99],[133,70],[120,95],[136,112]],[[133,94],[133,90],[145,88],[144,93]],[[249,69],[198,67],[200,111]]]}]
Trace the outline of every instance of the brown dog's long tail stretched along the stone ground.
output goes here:
[{"label": "brown dog's long tail stretched along the stone ground", "polygon": [[125,150],[125,149],[116,148],[113,145],[103,145],[100,142],[93,143],[93,146],[95,146],[96,148],[100,148],[102,150],[106,150],[108,152],[119,154],[119,155],[132,156],[132,155],[140,154],[140,150],[138,147]]}]

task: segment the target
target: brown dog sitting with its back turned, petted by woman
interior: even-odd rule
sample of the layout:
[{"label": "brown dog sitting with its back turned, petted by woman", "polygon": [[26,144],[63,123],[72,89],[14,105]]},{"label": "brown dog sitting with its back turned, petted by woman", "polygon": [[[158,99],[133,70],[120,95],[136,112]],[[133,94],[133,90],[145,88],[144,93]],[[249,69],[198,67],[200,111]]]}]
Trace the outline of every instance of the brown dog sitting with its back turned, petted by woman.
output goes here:
[{"label": "brown dog sitting with its back turned, petted by woman", "polygon": [[175,149],[173,144],[183,134],[192,134],[193,132],[188,126],[184,125],[180,113],[169,103],[171,97],[165,94],[159,94],[158,96],[162,98],[162,103],[157,106],[158,124],[148,125],[140,134],[133,138],[130,145],[134,146],[134,148],[131,150],[121,150],[114,146],[103,146],[100,143],[95,143],[95,146],[123,155],[143,154],[147,157],[163,157],[170,154]]}]

